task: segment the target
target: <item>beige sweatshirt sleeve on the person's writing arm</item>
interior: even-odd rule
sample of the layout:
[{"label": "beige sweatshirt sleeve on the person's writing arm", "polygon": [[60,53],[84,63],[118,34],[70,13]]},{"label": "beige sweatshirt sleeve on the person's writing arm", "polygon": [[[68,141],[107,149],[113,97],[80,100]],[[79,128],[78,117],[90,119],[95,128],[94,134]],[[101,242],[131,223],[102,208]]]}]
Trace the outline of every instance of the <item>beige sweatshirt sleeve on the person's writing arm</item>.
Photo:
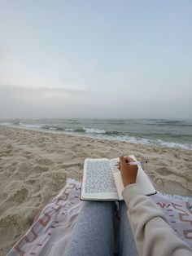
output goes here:
[{"label": "beige sweatshirt sleeve on the person's writing arm", "polygon": [[150,196],[142,195],[137,184],[124,188],[122,195],[139,255],[192,255],[190,246],[169,227],[163,212]]}]

